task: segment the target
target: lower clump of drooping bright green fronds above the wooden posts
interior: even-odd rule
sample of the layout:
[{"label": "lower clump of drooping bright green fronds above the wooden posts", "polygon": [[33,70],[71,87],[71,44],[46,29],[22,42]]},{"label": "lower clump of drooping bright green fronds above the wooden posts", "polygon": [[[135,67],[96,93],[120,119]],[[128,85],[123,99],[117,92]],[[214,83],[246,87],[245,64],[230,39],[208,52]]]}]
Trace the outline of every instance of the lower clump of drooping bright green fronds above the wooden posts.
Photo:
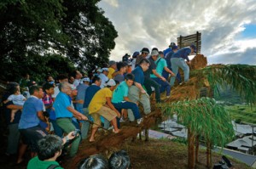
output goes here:
[{"label": "lower clump of drooping bright green fronds above the wooden posts", "polygon": [[201,98],[158,104],[165,115],[177,114],[177,119],[195,135],[224,147],[235,136],[230,114],[214,99]]}]

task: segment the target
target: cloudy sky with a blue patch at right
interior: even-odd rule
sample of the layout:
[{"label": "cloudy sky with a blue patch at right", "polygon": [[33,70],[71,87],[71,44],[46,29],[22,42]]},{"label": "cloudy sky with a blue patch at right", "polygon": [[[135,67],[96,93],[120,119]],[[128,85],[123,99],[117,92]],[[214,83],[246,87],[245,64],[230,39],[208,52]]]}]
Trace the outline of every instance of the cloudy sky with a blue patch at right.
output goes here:
[{"label": "cloudy sky with a blue patch at right", "polygon": [[110,59],[201,32],[209,64],[256,65],[256,0],[102,0],[119,37]]}]

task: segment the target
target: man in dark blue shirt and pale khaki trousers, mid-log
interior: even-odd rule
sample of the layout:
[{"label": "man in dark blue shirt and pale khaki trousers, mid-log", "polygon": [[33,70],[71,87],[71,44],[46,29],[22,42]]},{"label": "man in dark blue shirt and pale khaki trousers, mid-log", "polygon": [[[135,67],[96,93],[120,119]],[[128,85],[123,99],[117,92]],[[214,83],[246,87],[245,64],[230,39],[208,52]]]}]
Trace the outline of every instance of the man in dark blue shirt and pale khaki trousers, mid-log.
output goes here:
[{"label": "man in dark blue shirt and pale khaki trousers, mid-log", "polygon": [[[144,84],[144,71],[148,70],[150,62],[148,59],[141,59],[137,67],[131,71],[135,76],[134,85],[130,87],[128,98],[131,102],[137,103],[138,101],[143,104],[144,113],[151,112],[149,96],[143,88]],[[130,121],[134,121],[135,117],[131,110],[128,110],[128,117]]]}]

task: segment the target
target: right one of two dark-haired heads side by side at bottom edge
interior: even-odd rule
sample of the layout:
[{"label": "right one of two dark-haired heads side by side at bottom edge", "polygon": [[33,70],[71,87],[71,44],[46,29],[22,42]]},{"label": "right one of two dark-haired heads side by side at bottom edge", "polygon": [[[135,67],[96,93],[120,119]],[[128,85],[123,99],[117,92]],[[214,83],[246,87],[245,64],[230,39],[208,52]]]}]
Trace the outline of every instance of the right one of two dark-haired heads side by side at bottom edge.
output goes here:
[{"label": "right one of two dark-haired heads side by side at bottom edge", "polygon": [[129,155],[125,149],[114,152],[108,160],[110,169],[128,169],[131,165]]}]

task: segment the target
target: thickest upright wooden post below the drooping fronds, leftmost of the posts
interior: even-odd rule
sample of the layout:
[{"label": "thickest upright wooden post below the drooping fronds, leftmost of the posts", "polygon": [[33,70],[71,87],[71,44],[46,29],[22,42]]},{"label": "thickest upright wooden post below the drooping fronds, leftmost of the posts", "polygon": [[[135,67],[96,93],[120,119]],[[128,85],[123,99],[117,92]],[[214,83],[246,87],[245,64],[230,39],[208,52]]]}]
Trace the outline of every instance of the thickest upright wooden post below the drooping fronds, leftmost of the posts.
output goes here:
[{"label": "thickest upright wooden post below the drooping fronds, leftmost of the posts", "polygon": [[195,169],[195,134],[188,127],[188,168]]}]

